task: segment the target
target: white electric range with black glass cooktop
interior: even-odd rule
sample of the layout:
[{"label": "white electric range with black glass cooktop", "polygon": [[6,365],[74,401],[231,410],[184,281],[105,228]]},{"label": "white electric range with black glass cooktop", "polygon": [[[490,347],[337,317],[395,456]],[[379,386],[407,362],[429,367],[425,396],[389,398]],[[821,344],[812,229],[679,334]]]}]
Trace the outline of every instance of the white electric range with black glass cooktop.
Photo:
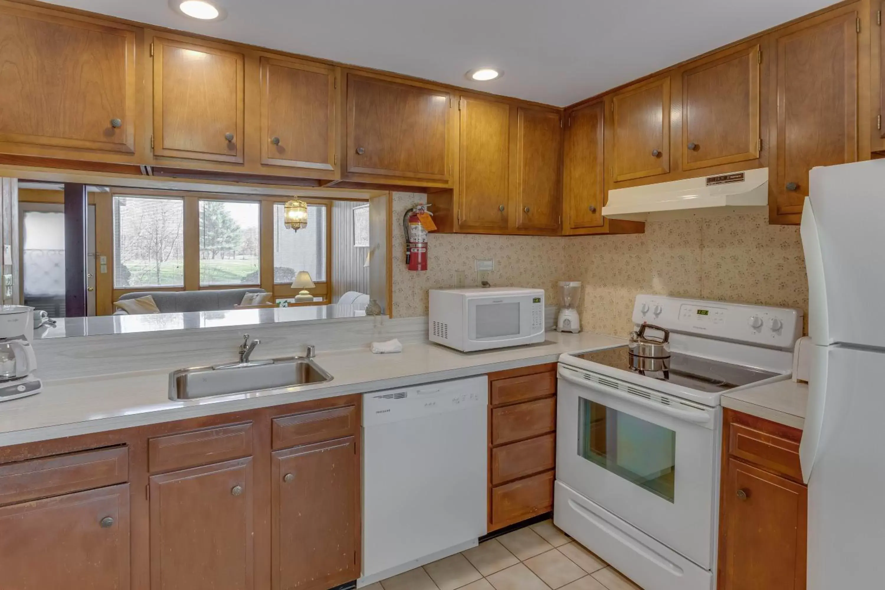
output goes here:
[{"label": "white electric range with black glass cooktop", "polygon": [[789,379],[802,311],[637,295],[666,370],[627,346],[559,357],[554,522],[645,590],[712,590],[720,396]]}]

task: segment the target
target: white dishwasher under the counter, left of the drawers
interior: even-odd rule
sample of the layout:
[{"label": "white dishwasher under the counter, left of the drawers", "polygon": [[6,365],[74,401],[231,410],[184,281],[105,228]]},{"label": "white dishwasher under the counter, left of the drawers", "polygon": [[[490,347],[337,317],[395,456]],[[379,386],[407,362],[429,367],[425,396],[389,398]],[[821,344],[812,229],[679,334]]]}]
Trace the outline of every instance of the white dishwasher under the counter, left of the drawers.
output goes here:
[{"label": "white dishwasher under the counter, left of the drawers", "polygon": [[363,397],[363,577],[395,576],[487,532],[489,379]]}]

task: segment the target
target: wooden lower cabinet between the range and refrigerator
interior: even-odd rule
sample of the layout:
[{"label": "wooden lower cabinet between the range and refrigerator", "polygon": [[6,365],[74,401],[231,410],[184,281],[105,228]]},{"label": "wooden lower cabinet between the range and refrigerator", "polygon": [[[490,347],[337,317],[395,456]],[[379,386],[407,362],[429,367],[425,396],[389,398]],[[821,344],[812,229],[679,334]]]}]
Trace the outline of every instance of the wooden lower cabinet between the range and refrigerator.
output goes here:
[{"label": "wooden lower cabinet between the range and refrigerator", "polygon": [[[801,475],[790,474],[801,436],[794,428],[726,410],[719,590],[804,590],[808,488]],[[736,455],[750,447],[758,464]]]}]

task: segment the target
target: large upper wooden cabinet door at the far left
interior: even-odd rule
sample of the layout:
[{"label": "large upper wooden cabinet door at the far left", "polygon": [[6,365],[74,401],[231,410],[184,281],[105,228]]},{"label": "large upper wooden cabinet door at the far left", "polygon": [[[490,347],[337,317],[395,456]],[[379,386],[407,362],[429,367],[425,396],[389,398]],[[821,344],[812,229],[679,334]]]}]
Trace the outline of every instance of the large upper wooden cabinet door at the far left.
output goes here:
[{"label": "large upper wooden cabinet door at the far left", "polygon": [[135,31],[0,9],[0,142],[135,151]]}]

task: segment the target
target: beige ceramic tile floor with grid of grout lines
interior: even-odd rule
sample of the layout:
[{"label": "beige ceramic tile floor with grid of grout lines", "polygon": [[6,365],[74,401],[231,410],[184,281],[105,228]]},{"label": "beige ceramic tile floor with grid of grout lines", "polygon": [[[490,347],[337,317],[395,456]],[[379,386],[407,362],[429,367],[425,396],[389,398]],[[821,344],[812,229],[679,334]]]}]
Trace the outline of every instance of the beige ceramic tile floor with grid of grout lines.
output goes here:
[{"label": "beige ceramic tile floor with grid of grout lines", "polygon": [[362,590],[642,590],[547,520]]}]

